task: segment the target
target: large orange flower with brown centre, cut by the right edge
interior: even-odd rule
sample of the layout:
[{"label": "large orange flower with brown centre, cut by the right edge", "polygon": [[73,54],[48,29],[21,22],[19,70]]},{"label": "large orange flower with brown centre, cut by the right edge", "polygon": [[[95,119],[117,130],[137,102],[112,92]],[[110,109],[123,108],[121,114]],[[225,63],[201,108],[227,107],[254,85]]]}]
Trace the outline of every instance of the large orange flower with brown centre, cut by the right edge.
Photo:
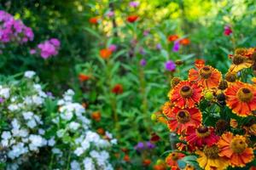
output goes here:
[{"label": "large orange flower with brown centre, cut by the right edge", "polygon": [[226,103],[238,116],[251,115],[256,110],[256,88],[251,84],[234,82],[224,91]]}]

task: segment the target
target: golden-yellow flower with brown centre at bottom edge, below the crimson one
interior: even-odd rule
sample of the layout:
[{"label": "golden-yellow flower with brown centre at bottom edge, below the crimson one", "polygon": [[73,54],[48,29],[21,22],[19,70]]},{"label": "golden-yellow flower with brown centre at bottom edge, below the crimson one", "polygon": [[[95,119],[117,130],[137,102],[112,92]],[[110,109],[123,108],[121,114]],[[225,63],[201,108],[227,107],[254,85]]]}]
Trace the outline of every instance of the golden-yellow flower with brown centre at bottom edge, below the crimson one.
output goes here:
[{"label": "golden-yellow flower with brown centre at bottom edge, below the crimson one", "polygon": [[203,151],[197,150],[195,153],[199,155],[197,162],[199,166],[205,170],[212,170],[216,168],[218,170],[224,170],[229,167],[230,162],[224,157],[218,156],[218,146],[206,146]]}]

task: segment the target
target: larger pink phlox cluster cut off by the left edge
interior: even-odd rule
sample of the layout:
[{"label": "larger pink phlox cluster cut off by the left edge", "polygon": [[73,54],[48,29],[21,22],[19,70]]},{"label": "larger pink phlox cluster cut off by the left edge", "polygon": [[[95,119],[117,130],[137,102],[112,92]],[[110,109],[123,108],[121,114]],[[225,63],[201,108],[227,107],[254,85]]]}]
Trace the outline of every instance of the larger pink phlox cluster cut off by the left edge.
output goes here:
[{"label": "larger pink phlox cluster cut off by the left edge", "polygon": [[21,20],[15,18],[0,10],[0,42],[19,42],[24,43],[32,41],[34,33],[30,27],[23,24]]}]

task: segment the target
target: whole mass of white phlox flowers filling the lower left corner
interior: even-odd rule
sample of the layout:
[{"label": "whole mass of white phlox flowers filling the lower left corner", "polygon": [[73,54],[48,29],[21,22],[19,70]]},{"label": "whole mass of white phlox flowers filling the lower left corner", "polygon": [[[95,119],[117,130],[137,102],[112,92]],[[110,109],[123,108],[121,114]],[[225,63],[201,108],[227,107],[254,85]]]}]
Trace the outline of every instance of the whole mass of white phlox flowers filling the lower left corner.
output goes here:
[{"label": "whole mass of white phlox flowers filling the lower left corner", "polygon": [[[35,72],[26,71],[24,77],[0,85],[0,111],[3,120],[10,122],[0,131],[1,147],[7,150],[6,169],[19,169],[34,154],[40,156],[40,149],[44,148],[51,150],[49,156],[42,155],[44,159],[58,161],[54,168],[113,169],[107,150],[117,140],[108,132],[107,139],[102,139],[91,130],[84,107],[73,102],[73,90],[67,90],[62,99],[55,101],[33,81]],[[52,102],[55,112],[45,113],[46,102]],[[67,161],[64,155],[70,159]]]}]

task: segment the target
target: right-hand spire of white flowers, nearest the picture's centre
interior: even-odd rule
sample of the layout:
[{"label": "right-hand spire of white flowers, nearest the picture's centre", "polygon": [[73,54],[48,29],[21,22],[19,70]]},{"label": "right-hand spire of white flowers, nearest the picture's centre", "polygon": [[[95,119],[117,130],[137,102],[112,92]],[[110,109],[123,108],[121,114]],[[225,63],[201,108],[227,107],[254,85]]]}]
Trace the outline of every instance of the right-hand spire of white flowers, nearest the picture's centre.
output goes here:
[{"label": "right-hand spire of white flowers, nearest the picture's centre", "polygon": [[[73,90],[67,90],[63,99],[58,101],[60,113],[53,120],[58,125],[60,125],[60,122],[65,122],[65,126],[59,129],[56,134],[57,138],[62,139],[64,143],[68,143],[73,148],[71,169],[113,169],[108,162],[108,152],[104,149],[116,144],[116,139],[113,139],[110,133],[106,133],[108,134],[108,140],[102,139],[98,133],[90,130],[90,120],[84,116],[84,107],[73,102],[73,95]],[[71,136],[71,134],[75,138],[65,141],[67,136]],[[55,147],[52,151],[61,157],[65,150]]]}]

